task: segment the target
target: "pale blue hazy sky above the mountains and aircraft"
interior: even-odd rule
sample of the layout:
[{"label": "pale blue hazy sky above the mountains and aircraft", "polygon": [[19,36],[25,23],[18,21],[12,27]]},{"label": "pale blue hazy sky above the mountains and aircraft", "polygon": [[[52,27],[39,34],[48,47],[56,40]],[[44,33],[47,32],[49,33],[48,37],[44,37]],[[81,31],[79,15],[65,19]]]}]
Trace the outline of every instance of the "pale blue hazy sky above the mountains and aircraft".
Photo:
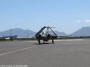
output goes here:
[{"label": "pale blue hazy sky above the mountains and aircraft", "polygon": [[66,33],[90,26],[90,0],[0,0],[0,31],[48,25]]}]

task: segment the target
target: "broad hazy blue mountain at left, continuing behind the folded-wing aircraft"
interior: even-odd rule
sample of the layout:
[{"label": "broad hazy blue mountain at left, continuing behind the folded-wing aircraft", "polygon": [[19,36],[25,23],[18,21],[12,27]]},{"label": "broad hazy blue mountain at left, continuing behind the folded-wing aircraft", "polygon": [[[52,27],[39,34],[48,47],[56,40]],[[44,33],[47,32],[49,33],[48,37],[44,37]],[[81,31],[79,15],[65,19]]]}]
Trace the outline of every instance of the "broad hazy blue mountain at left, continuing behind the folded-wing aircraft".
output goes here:
[{"label": "broad hazy blue mountain at left, continuing behind the folded-wing aircraft", "polygon": [[[55,31],[55,32],[58,36],[66,35],[64,32],[58,32],[58,31]],[[19,38],[31,38],[31,37],[34,37],[35,34],[36,34],[36,32],[34,32],[32,30],[24,30],[21,28],[14,28],[14,29],[9,29],[9,30],[0,32],[0,37],[17,35]]]}]

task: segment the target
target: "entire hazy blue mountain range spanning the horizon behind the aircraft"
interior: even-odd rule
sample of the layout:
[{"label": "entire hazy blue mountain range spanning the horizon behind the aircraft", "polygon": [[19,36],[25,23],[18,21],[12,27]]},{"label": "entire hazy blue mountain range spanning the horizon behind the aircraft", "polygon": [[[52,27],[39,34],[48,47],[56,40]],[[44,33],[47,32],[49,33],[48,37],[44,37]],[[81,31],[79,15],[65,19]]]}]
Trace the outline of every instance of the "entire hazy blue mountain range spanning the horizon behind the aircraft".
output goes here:
[{"label": "entire hazy blue mountain range spanning the horizon behind the aircraft", "polygon": [[[67,36],[65,32],[59,32],[55,31],[58,36]],[[21,28],[14,28],[14,29],[9,29],[6,31],[0,32],[0,37],[3,36],[13,36],[17,35],[20,38],[31,38],[34,37],[36,32],[32,30],[24,30]],[[90,36],[90,27],[82,27],[81,29],[77,30],[76,32],[70,34],[72,36]]]}]

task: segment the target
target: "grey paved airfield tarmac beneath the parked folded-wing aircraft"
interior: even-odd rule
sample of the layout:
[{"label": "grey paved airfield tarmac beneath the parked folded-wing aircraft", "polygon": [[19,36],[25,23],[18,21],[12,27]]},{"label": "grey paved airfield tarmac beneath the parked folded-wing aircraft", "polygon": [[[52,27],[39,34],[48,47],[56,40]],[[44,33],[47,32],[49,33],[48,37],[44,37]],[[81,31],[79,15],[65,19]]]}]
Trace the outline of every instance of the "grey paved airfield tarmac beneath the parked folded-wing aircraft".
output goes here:
[{"label": "grey paved airfield tarmac beneath the parked folded-wing aircraft", "polygon": [[0,65],[28,67],[90,67],[90,39],[0,42]]}]

